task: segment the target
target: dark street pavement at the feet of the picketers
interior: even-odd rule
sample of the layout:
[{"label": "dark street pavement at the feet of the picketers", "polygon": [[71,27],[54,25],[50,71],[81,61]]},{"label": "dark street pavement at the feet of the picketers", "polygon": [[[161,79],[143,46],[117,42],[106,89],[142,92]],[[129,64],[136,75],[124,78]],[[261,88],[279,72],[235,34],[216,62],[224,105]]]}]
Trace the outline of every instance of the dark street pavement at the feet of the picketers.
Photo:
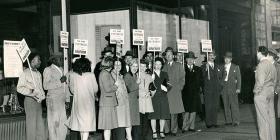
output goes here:
[{"label": "dark street pavement at the feet of the picketers", "polygon": [[[218,115],[218,128],[206,128],[205,122],[196,120],[196,129],[200,132],[181,133],[177,136],[167,136],[165,140],[259,140],[253,104],[240,105],[240,125],[225,126],[224,111],[220,109]],[[151,135],[151,134],[148,134]],[[149,136],[148,136],[149,137]],[[91,136],[90,140],[101,140],[100,135]],[[148,138],[151,140],[151,137]]]}]

